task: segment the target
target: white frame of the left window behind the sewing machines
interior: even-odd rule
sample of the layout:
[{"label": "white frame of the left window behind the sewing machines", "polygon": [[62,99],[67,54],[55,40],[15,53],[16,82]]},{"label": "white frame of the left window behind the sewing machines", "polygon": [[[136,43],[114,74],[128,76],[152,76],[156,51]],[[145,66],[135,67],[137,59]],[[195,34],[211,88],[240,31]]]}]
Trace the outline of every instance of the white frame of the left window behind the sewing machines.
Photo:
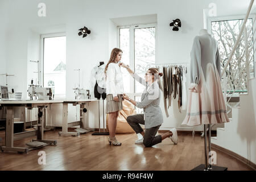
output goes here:
[{"label": "white frame of the left window behind the sewing machines", "polygon": [[[45,38],[57,38],[57,37],[60,37],[60,36],[65,36],[66,39],[67,39],[67,36],[66,36],[66,33],[65,32],[59,32],[59,33],[54,33],[54,34],[42,34],[40,35],[40,60],[39,61],[39,69],[40,69],[40,77],[41,77],[41,85],[44,87],[44,39]],[[67,43],[66,43],[67,44]],[[65,96],[66,96],[67,93],[65,93]],[[56,97],[56,98],[65,98],[64,97]]]}]

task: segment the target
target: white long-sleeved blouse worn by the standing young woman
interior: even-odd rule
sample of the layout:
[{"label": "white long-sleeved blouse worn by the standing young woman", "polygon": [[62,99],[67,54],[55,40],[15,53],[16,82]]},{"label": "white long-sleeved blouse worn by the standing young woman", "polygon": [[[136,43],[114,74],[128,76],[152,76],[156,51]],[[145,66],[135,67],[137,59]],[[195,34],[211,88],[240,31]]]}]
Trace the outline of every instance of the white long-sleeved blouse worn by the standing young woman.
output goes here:
[{"label": "white long-sleeved blouse worn by the standing young woman", "polygon": [[123,76],[118,63],[110,63],[106,71],[106,94],[123,94]]}]

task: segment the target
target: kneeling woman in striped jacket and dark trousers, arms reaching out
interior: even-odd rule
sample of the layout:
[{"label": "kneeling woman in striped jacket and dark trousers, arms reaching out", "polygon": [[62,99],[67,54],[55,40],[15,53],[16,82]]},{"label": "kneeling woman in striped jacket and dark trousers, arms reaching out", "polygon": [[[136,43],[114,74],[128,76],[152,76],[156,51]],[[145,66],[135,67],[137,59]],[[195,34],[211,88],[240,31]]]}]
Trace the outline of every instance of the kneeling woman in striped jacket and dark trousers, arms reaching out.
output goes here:
[{"label": "kneeling woman in striped jacket and dark trousers, arms reaching out", "polygon": [[[151,147],[169,137],[174,144],[177,144],[177,131],[175,128],[167,133],[155,136],[163,123],[163,114],[159,106],[162,95],[159,77],[163,76],[163,73],[159,73],[156,68],[150,68],[144,76],[145,79],[143,79],[139,77],[137,73],[134,73],[127,65],[123,63],[119,65],[126,68],[135,80],[146,86],[141,96],[141,102],[131,100],[126,94],[123,94],[123,98],[130,101],[133,105],[144,109],[144,114],[135,114],[127,117],[127,122],[136,134],[140,133],[143,136],[143,139],[137,140],[135,143],[143,143],[144,146]],[[139,124],[145,125],[145,133]]]}]

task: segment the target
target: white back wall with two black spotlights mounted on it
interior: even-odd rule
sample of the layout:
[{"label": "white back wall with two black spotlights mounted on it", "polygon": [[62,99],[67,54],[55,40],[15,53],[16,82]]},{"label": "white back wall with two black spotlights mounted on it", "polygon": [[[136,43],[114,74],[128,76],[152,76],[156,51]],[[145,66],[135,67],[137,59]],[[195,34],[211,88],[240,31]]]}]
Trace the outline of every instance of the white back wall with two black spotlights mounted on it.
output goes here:
[{"label": "white back wall with two black spotlights mounted on it", "polygon": [[[74,69],[82,69],[82,86],[89,88],[90,70],[99,61],[109,60],[110,50],[116,46],[116,31],[113,18],[157,14],[158,35],[156,40],[157,63],[189,62],[193,38],[203,28],[203,9],[208,9],[211,2],[217,5],[217,15],[245,14],[249,0],[246,1],[210,1],[210,0],[142,0],[142,1],[61,1],[61,0],[13,0],[6,3],[8,14],[8,33],[5,36],[6,70],[15,74],[10,84],[18,92],[27,95],[27,79],[30,68],[28,60],[36,59],[38,51],[33,50],[38,43],[37,34],[41,28],[50,28],[59,24],[65,25],[67,36],[67,88],[68,98],[73,98],[73,86],[76,77]],[[46,17],[38,16],[38,4],[46,3]],[[8,13],[7,13],[8,12]],[[172,19],[180,18],[182,27],[179,32],[169,26]],[[86,26],[92,33],[86,38],[77,35],[78,29]],[[31,33],[31,30],[32,33]],[[34,31],[37,30],[37,31]],[[33,33],[34,32],[34,33]],[[31,40],[35,40],[31,43]],[[35,48],[36,49],[36,48]],[[2,56],[4,57],[4,56]],[[35,57],[35,58],[34,58]],[[1,59],[2,60],[2,59]],[[162,128],[180,127],[185,111],[177,111],[177,101],[172,101],[169,118],[164,118]],[[96,109],[97,105],[93,105]],[[162,104],[162,110],[164,107]],[[102,119],[101,119],[102,121]],[[97,121],[92,124],[97,127]],[[201,130],[199,127],[198,130]]]}]

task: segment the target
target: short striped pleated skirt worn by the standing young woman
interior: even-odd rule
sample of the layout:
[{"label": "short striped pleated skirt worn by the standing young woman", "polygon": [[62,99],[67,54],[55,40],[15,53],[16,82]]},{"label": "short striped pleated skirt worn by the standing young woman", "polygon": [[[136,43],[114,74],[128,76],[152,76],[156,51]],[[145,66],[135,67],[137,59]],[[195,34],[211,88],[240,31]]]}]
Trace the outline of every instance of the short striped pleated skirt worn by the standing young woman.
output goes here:
[{"label": "short striped pleated skirt worn by the standing young woman", "polygon": [[106,96],[106,114],[108,113],[114,113],[115,111],[119,111],[123,109],[122,105],[122,94],[118,94],[118,102],[114,101],[114,97],[112,94],[108,94]]}]

